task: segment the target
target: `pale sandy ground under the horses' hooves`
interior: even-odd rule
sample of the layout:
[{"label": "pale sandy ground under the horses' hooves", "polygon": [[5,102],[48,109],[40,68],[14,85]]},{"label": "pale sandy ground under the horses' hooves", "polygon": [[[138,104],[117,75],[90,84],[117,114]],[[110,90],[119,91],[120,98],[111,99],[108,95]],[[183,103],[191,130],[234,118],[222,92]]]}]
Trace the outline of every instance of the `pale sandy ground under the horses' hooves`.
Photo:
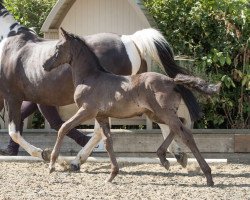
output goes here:
[{"label": "pale sandy ground under the horses' hooves", "polygon": [[[78,173],[47,163],[0,163],[0,199],[250,199],[249,164],[210,164],[215,186],[203,174],[178,165],[122,164],[113,183],[105,183],[108,163],[86,163]],[[188,172],[188,170],[190,172]],[[191,172],[192,171],[192,172]]]}]

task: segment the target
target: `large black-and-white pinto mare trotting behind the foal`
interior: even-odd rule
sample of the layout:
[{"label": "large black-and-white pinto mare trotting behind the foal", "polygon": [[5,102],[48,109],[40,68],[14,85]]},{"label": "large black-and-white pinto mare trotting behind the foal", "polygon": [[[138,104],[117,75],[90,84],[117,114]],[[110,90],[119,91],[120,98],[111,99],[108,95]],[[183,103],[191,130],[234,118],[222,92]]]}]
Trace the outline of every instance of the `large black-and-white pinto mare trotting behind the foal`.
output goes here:
[{"label": "large black-and-white pinto mare trotting behind the foal", "polygon": [[[20,25],[6,10],[2,0],[0,26],[0,110],[5,99],[10,136],[30,155],[42,157],[43,150],[32,146],[20,135],[20,106],[24,100],[54,106],[73,103],[71,69],[69,65],[63,65],[50,73],[45,72],[42,64],[54,52],[57,41],[40,38],[34,31]],[[147,71],[146,55],[163,66],[171,77],[183,72],[175,64],[169,44],[155,29],[122,36],[101,33],[84,39],[105,69],[113,73],[130,75]],[[192,119],[197,119],[200,110],[191,91],[182,86],[176,89],[184,94],[184,102]],[[97,127],[95,130],[100,129]],[[167,131],[163,129],[164,132]],[[91,139],[92,143],[85,148],[85,158],[99,140],[97,136]],[[185,166],[186,154],[181,152],[176,143],[173,146],[172,153]]]}]

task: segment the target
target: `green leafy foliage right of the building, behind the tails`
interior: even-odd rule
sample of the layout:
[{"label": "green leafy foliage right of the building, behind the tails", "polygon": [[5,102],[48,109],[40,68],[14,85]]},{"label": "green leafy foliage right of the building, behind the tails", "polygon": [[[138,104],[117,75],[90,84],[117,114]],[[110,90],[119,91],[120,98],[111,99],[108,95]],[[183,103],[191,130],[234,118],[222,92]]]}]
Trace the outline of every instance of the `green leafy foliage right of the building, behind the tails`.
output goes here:
[{"label": "green leafy foliage right of the building, behind the tails", "polygon": [[221,81],[219,96],[203,99],[199,128],[248,128],[250,4],[247,0],[145,0],[159,29],[194,73]]}]

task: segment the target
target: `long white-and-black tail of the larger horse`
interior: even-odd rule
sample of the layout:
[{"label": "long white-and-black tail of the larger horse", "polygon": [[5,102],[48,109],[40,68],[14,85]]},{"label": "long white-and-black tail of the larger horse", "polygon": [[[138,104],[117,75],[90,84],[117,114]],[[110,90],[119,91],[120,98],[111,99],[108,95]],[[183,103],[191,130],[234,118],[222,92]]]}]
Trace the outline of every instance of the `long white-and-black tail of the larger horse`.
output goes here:
[{"label": "long white-and-black tail of the larger horse", "polygon": [[[165,72],[174,78],[177,74],[188,74],[187,70],[178,66],[174,60],[174,53],[164,36],[157,30],[143,29],[130,35],[130,38],[139,48],[141,56],[147,55],[160,64]],[[193,121],[201,117],[201,108],[193,93],[182,85],[178,85],[178,92],[181,94]]]}]

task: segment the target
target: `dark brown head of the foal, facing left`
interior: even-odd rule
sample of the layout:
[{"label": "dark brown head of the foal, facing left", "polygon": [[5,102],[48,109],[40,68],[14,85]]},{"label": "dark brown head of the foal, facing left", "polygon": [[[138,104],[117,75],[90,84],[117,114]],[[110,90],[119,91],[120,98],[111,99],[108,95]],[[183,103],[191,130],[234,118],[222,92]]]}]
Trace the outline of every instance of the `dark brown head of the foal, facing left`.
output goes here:
[{"label": "dark brown head of the foal, facing left", "polygon": [[71,41],[74,39],[71,34],[61,28],[62,39],[58,41],[53,54],[44,62],[43,68],[46,71],[68,63],[70,64],[72,59],[72,44]]}]

